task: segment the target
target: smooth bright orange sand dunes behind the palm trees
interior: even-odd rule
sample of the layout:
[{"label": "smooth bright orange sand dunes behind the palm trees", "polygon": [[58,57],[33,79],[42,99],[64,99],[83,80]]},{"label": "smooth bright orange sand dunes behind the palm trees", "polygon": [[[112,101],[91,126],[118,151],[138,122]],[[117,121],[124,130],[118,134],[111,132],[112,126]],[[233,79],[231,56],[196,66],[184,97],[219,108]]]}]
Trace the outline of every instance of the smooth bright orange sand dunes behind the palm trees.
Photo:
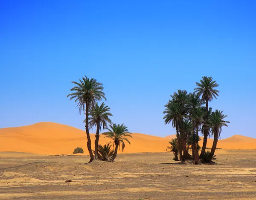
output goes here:
[{"label": "smooth bright orange sand dunes behind the palm trees", "polygon": [[[94,148],[95,135],[91,135]],[[175,137],[150,136],[133,133],[131,145],[126,144],[123,153],[162,152],[169,145],[168,141]],[[88,154],[86,134],[84,130],[52,122],[41,122],[34,125],[0,129],[0,151],[19,151],[35,154],[72,154],[74,148],[82,147],[84,154]],[[100,136],[99,143],[105,144],[110,140]],[[212,146],[212,139],[208,139],[207,147]],[[202,145],[203,140],[200,141]],[[256,139],[234,135],[219,140],[218,148],[224,149],[256,149]],[[121,153],[121,152],[120,152]]]}]

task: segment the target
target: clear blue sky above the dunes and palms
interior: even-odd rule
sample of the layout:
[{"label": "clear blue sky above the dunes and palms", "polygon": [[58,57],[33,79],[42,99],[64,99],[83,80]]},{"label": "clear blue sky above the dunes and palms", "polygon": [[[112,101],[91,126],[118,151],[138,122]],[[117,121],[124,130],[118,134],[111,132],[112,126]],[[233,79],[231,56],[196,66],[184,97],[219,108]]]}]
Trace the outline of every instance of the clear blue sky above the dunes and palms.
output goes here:
[{"label": "clear blue sky above the dunes and palms", "polygon": [[209,106],[230,121],[221,138],[255,138],[255,4],[1,0],[0,128],[57,122],[84,130],[66,96],[87,75],[103,83],[113,122],[174,134],[164,104],[206,75],[220,85]]}]

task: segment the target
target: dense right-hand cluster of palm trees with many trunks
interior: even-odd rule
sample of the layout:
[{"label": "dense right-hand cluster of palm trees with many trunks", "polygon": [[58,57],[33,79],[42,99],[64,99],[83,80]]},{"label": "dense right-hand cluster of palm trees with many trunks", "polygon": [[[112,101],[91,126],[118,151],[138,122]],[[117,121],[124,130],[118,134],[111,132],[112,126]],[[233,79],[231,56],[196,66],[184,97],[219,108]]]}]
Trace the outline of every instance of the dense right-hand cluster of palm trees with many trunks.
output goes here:
[{"label": "dense right-hand cluster of palm trees with many trunks", "polygon": [[[207,138],[213,135],[213,144],[210,154],[213,156],[217,147],[218,138],[220,137],[223,126],[227,126],[228,121],[224,121],[227,117],[221,110],[212,112],[209,107],[209,101],[217,99],[219,91],[216,81],[212,77],[204,76],[200,82],[196,83],[193,93],[186,90],[178,90],[172,99],[165,105],[163,117],[165,124],[172,122],[172,127],[176,129],[177,139],[169,142],[171,150],[175,153],[175,160],[185,161],[186,159],[194,159],[195,164],[201,164],[200,157],[206,153]],[[199,131],[204,135],[202,148],[198,145],[200,140]],[[189,146],[192,149],[192,156],[189,154]],[[199,149],[201,154],[199,156]]]}]

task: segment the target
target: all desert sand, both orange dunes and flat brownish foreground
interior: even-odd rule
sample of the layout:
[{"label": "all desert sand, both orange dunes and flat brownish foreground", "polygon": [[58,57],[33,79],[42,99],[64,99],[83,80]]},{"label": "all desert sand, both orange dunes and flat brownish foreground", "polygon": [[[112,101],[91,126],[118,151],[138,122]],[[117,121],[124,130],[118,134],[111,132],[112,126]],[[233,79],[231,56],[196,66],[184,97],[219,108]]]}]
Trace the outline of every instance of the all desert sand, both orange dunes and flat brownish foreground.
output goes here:
[{"label": "all desert sand, both orange dunes and flat brownish foreground", "polygon": [[[245,149],[254,149],[256,139],[235,135],[220,140],[223,149],[216,150],[215,165],[180,165],[164,152],[174,137],[133,133],[127,154],[118,154],[115,162],[87,163],[83,130],[51,122],[2,128],[0,199],[255,200],[256,150]],[[100,143],[106,142],[101,136]],[[55,155],[72,154],[78,146],[85,154]]]}]

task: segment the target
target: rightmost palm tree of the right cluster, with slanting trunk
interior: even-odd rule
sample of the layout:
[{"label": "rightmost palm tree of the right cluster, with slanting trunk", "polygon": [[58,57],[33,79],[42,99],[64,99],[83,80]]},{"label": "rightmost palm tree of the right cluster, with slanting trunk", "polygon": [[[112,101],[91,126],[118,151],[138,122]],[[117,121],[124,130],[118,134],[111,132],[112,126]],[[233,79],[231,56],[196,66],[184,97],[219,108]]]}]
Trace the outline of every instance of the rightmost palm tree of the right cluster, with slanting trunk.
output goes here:
[{"label": "rightmost palm tree of the right cluster, with slanting trunk", "polygon": [[221,110],[215,110],[210,116],[209,116],[209,125],[211,127],[211,132],[213,134],[213,143],[212,143],[212,150],[211,154],[214,155],[218,138],[221,135],[222,126],[227,126],[227,123],[230,123],[228,121],[224,121],[224,118],[227,117],[227,115],[222,114],[223,111]]}]

